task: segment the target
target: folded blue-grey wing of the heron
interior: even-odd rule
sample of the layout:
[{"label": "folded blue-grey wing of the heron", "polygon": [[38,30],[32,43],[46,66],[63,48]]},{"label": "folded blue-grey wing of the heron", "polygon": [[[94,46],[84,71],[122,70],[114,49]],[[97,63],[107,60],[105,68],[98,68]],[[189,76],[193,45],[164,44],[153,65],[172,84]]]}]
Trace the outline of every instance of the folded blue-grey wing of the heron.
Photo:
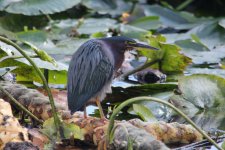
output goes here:
[{"label": "folded blue-grey wing of the heron", "polygon": [[88,41],[74,54],[68,72],[68,106],[79,110],[112,79],[113,65],[97,42]]}]

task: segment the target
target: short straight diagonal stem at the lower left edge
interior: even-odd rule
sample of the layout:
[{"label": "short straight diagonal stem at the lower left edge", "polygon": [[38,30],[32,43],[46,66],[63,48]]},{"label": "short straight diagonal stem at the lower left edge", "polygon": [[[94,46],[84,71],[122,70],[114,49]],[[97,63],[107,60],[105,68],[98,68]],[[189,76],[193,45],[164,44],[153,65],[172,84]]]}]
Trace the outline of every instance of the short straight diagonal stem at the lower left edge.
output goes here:
[{"label": "short straight diagonal stem at the lower left edge", "polygon": [[36,120],[39,123],[43,123],[42,120],[38,119],[34,114],[32,114],[29,110],[27,110],[22,104],[20,104],[9,92],[7,92],[2,86],[0,86],[0,90],[8,96],[8,98],[15,103],[20,109],[26,112],[30,117]]}]

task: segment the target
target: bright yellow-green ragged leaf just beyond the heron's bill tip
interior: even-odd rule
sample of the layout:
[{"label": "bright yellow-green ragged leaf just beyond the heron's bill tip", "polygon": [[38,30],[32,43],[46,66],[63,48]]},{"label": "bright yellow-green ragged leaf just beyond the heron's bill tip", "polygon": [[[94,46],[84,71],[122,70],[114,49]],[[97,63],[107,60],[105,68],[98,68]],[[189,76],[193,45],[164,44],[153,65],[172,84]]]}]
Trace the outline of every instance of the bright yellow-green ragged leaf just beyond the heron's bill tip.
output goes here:
[{"label": "bright yellow-green ragged leaf just beyond the heron's bill tip", "polygon": [[148,38],[150,45],[153,45],[160,50],[158,51],[144,51],[142,54],[147,56],[149,61],[159,60],[159,64],[151,67],[161,69],[167,74],[181,73],[186,66],[191,62],[191,59],[181,54],[181,49],[174,44],[167,44],[165,37],[151,36]]}]

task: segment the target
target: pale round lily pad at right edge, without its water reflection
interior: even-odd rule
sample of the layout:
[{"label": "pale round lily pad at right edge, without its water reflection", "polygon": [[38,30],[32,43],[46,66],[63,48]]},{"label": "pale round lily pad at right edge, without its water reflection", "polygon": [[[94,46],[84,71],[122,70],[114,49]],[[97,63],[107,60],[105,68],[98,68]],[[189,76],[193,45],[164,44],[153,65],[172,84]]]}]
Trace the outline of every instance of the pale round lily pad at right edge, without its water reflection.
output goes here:
[{"label": "pale round lily pad at right edge, without its water reflection", "polygon": [[176,97],[198,108],[207,109],[225,104],[225,79],[215,75],[195,74],[184,77],[179,80],[178,89]]}]

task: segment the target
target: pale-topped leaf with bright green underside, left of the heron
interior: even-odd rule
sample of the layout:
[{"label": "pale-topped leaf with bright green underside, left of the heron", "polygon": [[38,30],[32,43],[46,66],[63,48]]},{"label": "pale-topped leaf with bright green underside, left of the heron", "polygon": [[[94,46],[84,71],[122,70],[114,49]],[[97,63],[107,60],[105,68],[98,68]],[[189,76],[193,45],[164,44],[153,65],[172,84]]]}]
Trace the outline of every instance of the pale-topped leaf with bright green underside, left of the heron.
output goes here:
[{"label": "pale-topped leaf with bright green underside, left of the heron", "polygon": [[[16,66],[17,68],[13,70],[13,72],[17,75],[18,81],[36,81],[42,83],[40,77],[37,75],[37,72],[33,69],[30,63],[25,58],[14,59],[13,57],[20,56],[19,52],[12,46],[9,46],[3,42],[0,42],[0,59],[4,57],[10,57],[7,59],[2,59],[0,63],[0,67],[12,67]],[[28,52],[26,52],[28,53]],[[28,53],[30,54],[30,53]],[[41,60],[40,58],[32,58],[34,63],[42,69],[49,70],[49,83],[54,84],[65,84],[67,77],[67,69],[68,66],[62,63],[50,63],[48,61]]]}]

